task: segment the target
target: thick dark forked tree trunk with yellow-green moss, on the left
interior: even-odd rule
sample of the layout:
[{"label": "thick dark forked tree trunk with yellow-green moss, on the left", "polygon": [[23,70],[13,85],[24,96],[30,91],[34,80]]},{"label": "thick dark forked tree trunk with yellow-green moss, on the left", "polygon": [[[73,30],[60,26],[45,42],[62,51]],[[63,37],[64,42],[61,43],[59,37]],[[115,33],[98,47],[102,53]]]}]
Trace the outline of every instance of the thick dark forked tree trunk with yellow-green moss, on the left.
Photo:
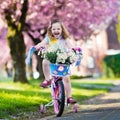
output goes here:
[{"label": "thick dark forked tree trunk with yellow-green moss, on the left", "polygon": [[[16,10],[16,4],[13,4],[13,10]],[[23,39],[23,30],[25,27],[25,20],[28,10],[28,0],[24,0],[21,16],[19,20],[13,20],[13,14],[11,9],[5,10],[5,17],[8,25],[8,43],[10,47],[10,53],[13,60],[14,68],[14,82],[28,83],[25,70],[25,43]]]}]

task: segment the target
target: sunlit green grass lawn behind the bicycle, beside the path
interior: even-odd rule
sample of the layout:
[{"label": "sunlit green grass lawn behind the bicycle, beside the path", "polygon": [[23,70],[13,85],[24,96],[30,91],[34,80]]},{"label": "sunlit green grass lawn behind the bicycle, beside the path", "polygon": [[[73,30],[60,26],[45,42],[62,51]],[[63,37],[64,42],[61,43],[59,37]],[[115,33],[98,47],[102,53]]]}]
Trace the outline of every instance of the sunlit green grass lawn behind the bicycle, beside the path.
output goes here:
[{"label": "sunlit green grass lawn behind the bicycle, beside the path", "polygon": [[[113,85],[108,80],[72,79],[71,82],[73,97],[79,103],[108,92]],[[39,111],[40,104],[50,100],[50,89],[40,88],[39,80],[30,80],[30,84],[13,83],[11,79],[0,80],[0,119],[14,120],[17,116]]]}]

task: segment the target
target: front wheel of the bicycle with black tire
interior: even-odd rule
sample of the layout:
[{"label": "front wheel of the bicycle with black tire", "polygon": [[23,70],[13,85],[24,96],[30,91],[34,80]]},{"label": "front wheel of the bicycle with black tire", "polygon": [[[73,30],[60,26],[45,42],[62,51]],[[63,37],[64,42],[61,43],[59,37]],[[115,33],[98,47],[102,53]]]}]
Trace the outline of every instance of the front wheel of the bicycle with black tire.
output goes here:
[{"label": "front wheel of the bicycle with black tire", "polygon": [[54,110],[57,117],[60,117],[64,111],[65,106],[65,90],[62,80],[56,82],[56,88],[54,89]]}]

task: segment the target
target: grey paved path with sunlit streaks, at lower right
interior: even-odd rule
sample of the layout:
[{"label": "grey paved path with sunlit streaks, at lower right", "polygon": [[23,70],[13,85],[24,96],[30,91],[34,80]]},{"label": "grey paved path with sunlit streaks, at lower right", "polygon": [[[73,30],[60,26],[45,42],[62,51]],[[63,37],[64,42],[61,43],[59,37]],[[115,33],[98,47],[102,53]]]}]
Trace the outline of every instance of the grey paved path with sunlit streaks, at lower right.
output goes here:
[{"label": "grey paved path with sunlit streaks, at lower right", "polygon": [[41,120],[120,120],[120,81],[115,84],[109,93],[79,105],[77,113],[69,111],[61,117],[50,116]]}]

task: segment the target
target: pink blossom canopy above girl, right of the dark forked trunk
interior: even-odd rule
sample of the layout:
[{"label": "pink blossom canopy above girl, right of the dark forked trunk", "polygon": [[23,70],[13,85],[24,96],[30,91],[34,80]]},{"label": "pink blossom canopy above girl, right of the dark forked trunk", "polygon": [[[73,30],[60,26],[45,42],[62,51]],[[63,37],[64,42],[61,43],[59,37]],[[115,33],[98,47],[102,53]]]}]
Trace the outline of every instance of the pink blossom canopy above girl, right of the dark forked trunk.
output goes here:
[{"label": "pink blossom canopy above girl, right of the dark forked trunk", "polygon": [[94,30],[105,29],[119,6],[119,0],[33,0],[26,22],[43,33],[52,18],[60,18],[75,39],[86,39]]}]

